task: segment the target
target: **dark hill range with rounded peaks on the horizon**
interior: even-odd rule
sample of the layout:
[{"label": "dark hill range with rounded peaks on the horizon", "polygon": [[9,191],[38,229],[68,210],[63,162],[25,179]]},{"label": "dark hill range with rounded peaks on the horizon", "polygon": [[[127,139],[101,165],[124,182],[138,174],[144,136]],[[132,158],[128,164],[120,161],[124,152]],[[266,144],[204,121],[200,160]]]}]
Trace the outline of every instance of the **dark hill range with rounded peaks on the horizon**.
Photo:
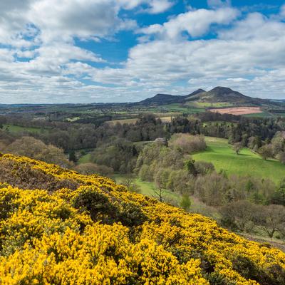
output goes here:
[{"label": "dark hill range with rounded peaks on the horizon", "polygon": [[162,105],[171,103],[187,103],[187,102],[204,102],[204,103],[219,103],[227,102],[233,105],[261,105],[270,103],[270,100],[252,98],[227,87],[215,87],[212,90],[205,91],[203,89],[195,90],[189,95],[170,95],[170,94],[157,94],[152,98],[147,98],[140,101],[142,105]]}]

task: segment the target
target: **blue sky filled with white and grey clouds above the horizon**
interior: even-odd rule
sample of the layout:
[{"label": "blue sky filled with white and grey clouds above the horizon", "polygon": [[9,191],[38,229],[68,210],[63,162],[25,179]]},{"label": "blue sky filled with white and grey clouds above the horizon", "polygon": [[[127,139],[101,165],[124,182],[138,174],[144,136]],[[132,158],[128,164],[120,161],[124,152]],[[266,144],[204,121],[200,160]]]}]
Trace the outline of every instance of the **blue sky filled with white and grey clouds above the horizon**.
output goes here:
[{"label": "blue sky filled with white and grey clouds above the horizon", "polygon": [[215,86],[285,99],[285,1],[0,1],[0,103],[134,102]]}]

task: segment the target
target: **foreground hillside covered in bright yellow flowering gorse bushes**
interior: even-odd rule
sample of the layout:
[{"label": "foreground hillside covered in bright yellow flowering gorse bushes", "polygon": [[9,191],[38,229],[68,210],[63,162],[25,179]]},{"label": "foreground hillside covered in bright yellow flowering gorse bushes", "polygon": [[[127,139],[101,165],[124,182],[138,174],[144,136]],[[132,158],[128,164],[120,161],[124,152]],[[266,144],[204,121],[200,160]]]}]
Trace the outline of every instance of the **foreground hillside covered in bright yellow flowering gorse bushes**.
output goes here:
[{"label": "foreground hillside covered in bright yellow flowering gorse bushes", "polygon": [[284,253],[212,219],[26,157],[0,170],[0,284],[284,284]]}]

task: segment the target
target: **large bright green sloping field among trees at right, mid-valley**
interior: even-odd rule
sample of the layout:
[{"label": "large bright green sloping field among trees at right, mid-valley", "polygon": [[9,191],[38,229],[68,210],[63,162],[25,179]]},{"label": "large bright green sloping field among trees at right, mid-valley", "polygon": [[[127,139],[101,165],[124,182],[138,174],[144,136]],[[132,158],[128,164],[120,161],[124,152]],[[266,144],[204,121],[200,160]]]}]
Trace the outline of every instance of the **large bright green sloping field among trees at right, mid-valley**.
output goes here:
[{"label": "large bright green sloping field among trees at right, mid-valley", "polygon": [[279,182],[285,177],[285,165],[277,160],[262,160],[262,158],[244,148],[239,155],[232,150],[232,145],[221,138],[206,138],[207,150],[192,155],[194,160],[212,162],[216,170],[224,170],[228,175],[243,175],[260,178],[270,178]]}]

